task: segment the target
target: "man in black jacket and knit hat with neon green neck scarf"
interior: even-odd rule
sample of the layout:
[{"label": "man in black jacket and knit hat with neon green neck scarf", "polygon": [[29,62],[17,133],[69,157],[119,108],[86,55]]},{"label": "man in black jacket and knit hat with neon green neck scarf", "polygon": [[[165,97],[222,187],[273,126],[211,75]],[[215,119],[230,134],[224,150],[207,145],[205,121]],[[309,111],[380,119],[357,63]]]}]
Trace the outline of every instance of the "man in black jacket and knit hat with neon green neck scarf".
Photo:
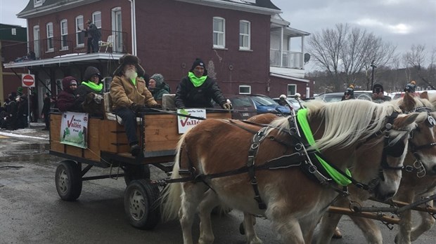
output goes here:
[{"label": "man in black jacket and knit hat with neon green neck scarf", "polygon": [[176,107],[178,109],[213,107],[212,99],[223,109],[231,109],[231,103],[226,100],[218,84],[207,76],[205,63],[197,58],[193,62],[188,76],[181,79],[179,86],[177,86]]}]

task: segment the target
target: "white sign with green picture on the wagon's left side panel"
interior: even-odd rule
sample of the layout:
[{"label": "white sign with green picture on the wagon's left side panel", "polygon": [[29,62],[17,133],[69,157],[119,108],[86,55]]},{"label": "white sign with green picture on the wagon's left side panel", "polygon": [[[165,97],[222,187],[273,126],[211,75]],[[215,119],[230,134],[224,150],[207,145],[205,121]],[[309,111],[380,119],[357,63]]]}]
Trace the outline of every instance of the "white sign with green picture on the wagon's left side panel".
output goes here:
[{"label": "white sign with green picture on the wagon's left side panel", "polygon": [[60,123],[60,143],[86,149],[88,147],[88,114],[66,111]]}]

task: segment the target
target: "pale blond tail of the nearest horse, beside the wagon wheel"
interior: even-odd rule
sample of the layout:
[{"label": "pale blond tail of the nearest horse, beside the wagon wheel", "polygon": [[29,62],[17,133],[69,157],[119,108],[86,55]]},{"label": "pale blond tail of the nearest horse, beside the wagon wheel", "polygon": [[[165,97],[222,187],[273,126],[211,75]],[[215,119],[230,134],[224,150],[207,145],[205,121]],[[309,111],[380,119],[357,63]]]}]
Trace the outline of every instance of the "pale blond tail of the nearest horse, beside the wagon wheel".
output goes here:
[{"label": "pale blond tail of the nearest horse, beside the wagon wheel", "polygon": [[[172,175],[171,179],[180,178],[179,174],[179,162],[180,162],[180,154],[181,154],[181,146],[184,142],[185,135],[181,136],[178,144],[177,144],[177,154],[174,159],[174,165],[172,167]],[[181,208],[181,183],[169,183],[167,187],[162,191],[162,196],[160,197],[160,216],[162,222],[168,222],[173,219],[177,219],[179,215],[179,210]]]}]

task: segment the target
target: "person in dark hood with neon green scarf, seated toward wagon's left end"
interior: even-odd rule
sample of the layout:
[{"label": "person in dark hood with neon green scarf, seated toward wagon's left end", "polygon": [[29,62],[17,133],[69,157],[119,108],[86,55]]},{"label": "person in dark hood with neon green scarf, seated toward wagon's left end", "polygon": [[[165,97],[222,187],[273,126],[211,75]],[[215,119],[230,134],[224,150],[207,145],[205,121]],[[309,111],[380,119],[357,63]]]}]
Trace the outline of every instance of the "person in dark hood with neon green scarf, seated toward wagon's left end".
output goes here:
[{"label": "person in dark hood with neon green scarf, seated toward wagon's left end", "polygon": [[86,95],[89,93],[96,93],[103,95],[103,83],[101,83],[102,76],[96,67],[89,66],[85,69],[84,80],[80,86],[75,90],[76,102],[79,104],[79,111],[84,111],[82,104]]}]

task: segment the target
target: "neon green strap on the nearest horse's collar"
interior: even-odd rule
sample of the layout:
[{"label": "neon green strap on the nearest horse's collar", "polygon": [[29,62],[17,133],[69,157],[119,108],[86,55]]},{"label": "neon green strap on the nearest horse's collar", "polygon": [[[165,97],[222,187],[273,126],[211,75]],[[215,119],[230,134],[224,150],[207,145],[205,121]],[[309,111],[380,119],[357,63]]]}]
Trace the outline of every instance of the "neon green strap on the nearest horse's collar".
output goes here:
[{"label": "neon green strap on the nearest horse's collar", "polygon": [[[307,121],[307,109],[299,109],[297,112],[297,121],[300,123],[300,128],[302,129],[304,136],[306,137],[307,142],[309,142],[309,145],[314,147],[315,145],[315,139],[314,135],[312,134],[312,130],[310,130],[309,121]],[[329,163],[327,163],[321,156],[318,154],[315,154],[316,159],[321,163],[323,168],[328,172],[328,175],[339,185],[342,187],[345,187],[352,183],[348,177],[351,177],[350,170],[345,170],[345,173],[348,177],[345,175],[342,175],[341,172],[338,172],[338,170],[335,170]]]}]

